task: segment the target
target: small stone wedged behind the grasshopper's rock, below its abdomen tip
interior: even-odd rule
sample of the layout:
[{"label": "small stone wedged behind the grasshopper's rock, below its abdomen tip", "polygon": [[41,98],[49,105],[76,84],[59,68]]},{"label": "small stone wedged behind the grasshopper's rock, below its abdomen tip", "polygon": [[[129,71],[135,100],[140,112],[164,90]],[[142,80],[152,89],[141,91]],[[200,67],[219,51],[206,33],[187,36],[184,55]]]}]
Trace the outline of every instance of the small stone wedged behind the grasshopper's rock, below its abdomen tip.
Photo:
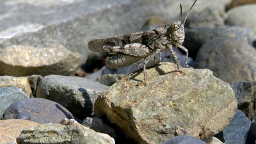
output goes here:
[{"label": "small stone wedged behind the grasshopper's rock, below its abdomen tip", "polygon": [[106,86],[112,86],[114,83],[118,82],[124,76],[124,74],[106,74],[103,76],[99,76],[96,80]]}]

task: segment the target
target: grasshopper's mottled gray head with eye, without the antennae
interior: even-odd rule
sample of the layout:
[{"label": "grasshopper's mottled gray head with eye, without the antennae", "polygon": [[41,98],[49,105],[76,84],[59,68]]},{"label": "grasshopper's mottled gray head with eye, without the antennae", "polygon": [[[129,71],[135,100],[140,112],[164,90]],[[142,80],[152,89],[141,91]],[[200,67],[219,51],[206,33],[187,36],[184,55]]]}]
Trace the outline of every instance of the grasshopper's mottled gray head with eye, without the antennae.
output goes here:
[{"label": "grasshopper's mottled gray head with eye, without the antennae", "polygon": [[172,36],[172,43],[182,45],[185,38],[185,32],[184,25],[179,20],[171,24],[170,33]]}]

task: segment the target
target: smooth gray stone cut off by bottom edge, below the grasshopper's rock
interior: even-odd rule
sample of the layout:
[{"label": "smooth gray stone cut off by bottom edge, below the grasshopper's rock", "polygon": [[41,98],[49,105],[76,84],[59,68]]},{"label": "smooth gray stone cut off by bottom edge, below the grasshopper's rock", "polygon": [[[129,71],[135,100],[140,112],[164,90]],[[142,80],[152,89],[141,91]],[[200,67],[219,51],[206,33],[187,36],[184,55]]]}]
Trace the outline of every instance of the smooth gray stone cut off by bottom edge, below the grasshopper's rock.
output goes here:
[{"label": "smooth gray stone cut off by bottom edge, below the grasshopper's rock", "polygon": [[176,136],[174,138],[171,138],[170,140],[167,140],[166,142],[163,142],[162,144],[206,144],[206,142],[195,138],[193,136]]}]

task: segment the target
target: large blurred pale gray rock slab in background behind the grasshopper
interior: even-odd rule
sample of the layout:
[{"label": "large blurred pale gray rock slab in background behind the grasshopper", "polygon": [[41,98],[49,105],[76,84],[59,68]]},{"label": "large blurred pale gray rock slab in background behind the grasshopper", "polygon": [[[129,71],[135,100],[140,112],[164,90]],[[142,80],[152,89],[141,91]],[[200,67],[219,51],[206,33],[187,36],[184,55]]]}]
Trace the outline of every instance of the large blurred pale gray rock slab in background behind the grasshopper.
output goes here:
[{"label": "large blurred pale gray rock slab in background behind the grasshopper", "polygon": [[[183,0],[184,13],[194,0]],[[224,6],[229,0],[201,0],[204,6]],[[79,52],[84,60],[91,39],[138,32],[152,15],[179,20],[177,0],[2,0],[0,4],[0,49],[12,44],[48,47],[62,44]],[[203,4],[202,4],[203,3]]]}]

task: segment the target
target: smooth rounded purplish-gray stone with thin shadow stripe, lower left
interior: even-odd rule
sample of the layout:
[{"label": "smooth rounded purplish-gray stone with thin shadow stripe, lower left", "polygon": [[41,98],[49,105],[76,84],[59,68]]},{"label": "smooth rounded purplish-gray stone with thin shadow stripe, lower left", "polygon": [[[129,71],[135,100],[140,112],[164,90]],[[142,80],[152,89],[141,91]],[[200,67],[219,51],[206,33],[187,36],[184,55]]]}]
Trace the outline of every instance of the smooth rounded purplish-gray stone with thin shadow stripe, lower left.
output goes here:
[{"label": "smooth rounded purplish-gray stone with thin shadow stripe, lower left", "polygon": [[11,104],[6,109],[1,119],[24,119],[39,124],[58,124],[63,118],[74,119],[74,116],[72,116],[66,108],[56,102],[43,98],[27,98]]}]

